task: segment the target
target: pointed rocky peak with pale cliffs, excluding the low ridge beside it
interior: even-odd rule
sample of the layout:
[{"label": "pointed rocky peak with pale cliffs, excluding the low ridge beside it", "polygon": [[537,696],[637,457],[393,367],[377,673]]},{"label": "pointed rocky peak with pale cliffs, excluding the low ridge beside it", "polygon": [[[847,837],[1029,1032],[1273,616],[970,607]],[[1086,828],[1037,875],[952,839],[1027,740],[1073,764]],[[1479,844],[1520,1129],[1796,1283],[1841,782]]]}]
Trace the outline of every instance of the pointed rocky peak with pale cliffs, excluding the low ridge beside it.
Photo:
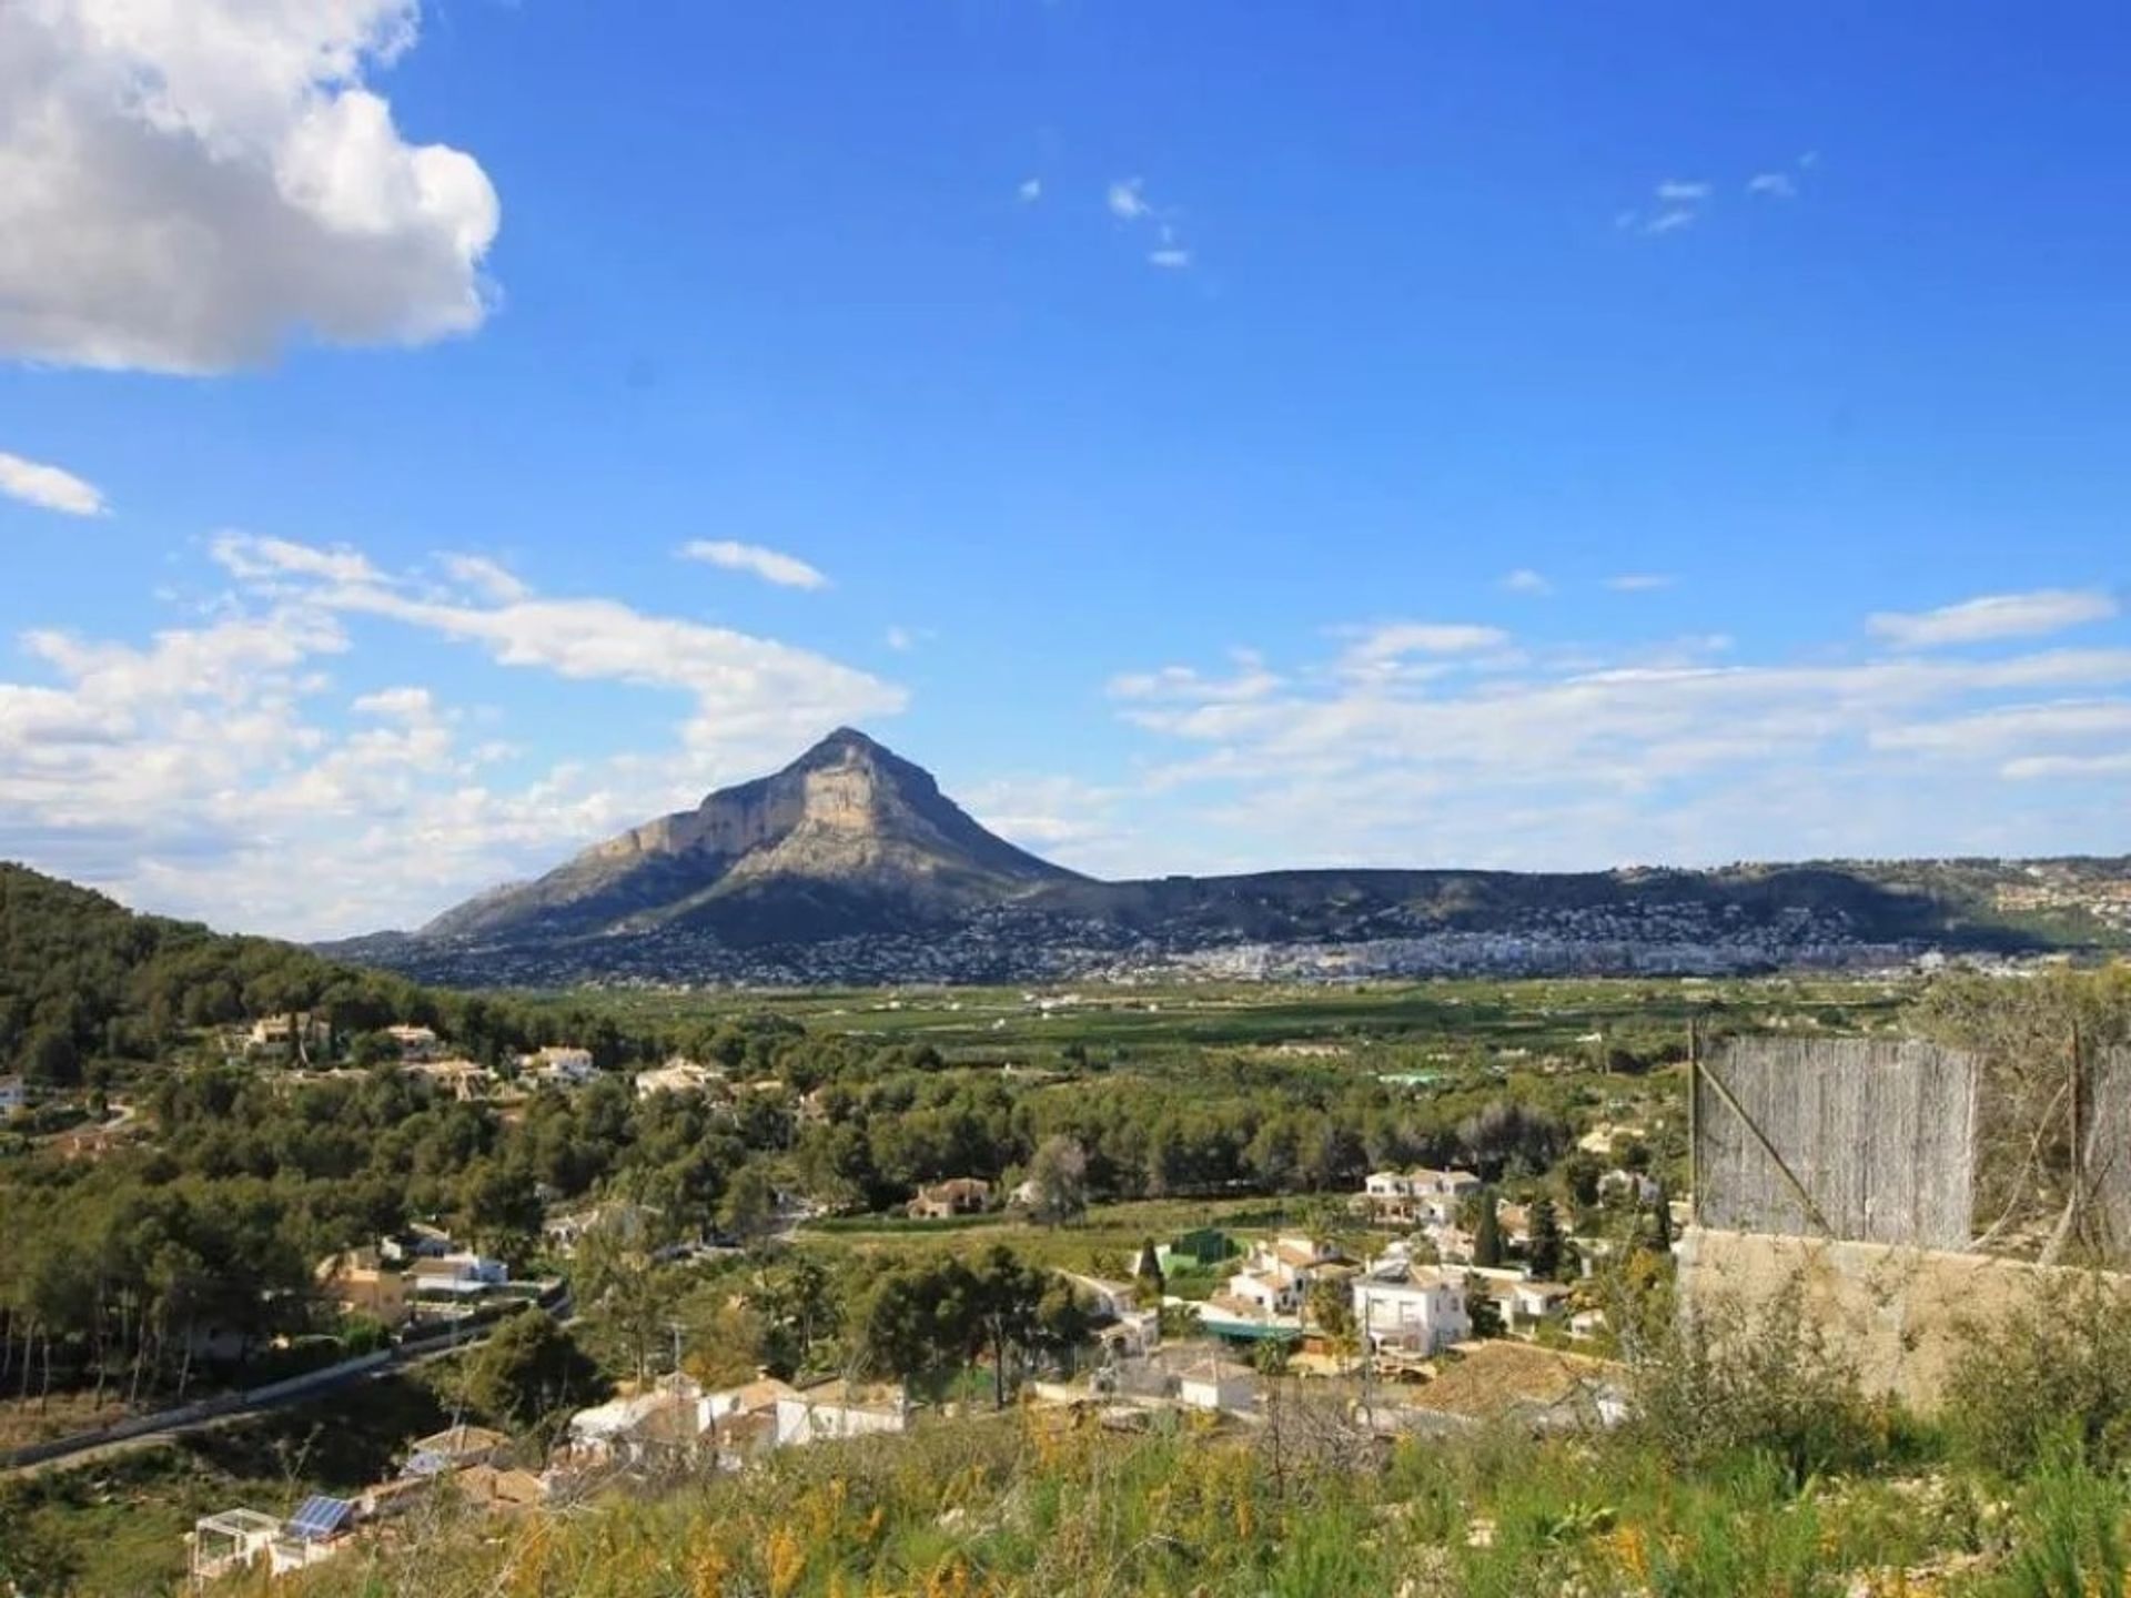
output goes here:
[{"label": "pointed rocky peak with pale cliffs, excluding the low ridge beside it", "polygon": [[921,767],[837,729],[776,776],[469,899],[430,940],[524,940],[701,923],[739,937],[863,931],[997,903],[1066,871],[987,833]]}]

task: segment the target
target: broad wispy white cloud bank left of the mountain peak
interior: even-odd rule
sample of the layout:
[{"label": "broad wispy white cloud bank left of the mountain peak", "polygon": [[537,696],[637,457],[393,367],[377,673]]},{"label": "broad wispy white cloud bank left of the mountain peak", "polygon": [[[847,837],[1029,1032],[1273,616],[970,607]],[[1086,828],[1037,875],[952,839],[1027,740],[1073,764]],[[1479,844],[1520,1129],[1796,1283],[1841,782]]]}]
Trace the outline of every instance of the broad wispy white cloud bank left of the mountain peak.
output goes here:
[{"label": "broad wispy white cloud bank left of the mountain peak", "polygon": [[[906,699],[820,654],[612,599],[437,597],[356,550],[241,533],[211,550],[237,590],[207,624],[139,648],[19,639],[49,680],[0,682],[0,859],[224,927],[409,925]],[[409,682],[330,692],[328,663],[369,658],[349,629],[377,624],[673,695],[673,739],[503,782],[494,767],[522,752],[492,716]],[[462,744],[467,722],[479,735]]]}]

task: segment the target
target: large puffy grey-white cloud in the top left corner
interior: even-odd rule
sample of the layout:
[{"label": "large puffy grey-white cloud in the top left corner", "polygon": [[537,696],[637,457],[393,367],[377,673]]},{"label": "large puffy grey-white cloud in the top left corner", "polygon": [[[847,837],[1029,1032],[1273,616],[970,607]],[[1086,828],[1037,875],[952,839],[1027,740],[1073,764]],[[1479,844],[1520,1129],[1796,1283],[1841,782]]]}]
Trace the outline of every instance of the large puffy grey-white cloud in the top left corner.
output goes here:
[{"label": "large puffy grey-white cloud in the top left corner", "polygon": [[0,6],[0,354],[215,373],[490,309],[479,164],[367,85],[416,0]]}]

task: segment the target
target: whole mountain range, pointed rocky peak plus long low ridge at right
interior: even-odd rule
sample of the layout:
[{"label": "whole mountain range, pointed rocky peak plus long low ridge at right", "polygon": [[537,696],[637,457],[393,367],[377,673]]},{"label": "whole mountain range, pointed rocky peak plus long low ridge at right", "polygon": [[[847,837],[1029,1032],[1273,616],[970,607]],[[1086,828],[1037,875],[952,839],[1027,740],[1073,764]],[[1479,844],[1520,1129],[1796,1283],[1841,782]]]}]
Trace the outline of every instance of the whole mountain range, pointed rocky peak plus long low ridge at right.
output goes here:
[{"label": "whole mountain range, pointed rocky peak plus long low ridge at right", "polygon": [[[452,982],[1027,980],[1247,946],[1419,974],[1694,972],[2131,942],[2131,859],[1807,861],[1611,871],[1317,867],[1106,882],[989,833],[837,729],[418,933],[335,952]],[[1217,961],[1219,963],[1219,961]]]}]

